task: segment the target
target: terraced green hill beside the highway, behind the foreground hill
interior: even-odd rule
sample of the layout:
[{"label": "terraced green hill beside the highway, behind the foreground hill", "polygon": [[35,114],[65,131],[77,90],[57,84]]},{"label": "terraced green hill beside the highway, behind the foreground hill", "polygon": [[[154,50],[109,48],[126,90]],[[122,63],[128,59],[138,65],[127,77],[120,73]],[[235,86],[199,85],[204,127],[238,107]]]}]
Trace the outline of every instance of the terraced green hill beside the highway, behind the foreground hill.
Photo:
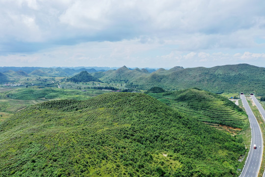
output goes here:
[{"label": "terraced green hill beside the highway, behind the foreground hill", "polygon": [[204,90],[185,89],[165,93],[149,93],[159,101],[203,122],[243,128],[247,116],[227,98]]}]

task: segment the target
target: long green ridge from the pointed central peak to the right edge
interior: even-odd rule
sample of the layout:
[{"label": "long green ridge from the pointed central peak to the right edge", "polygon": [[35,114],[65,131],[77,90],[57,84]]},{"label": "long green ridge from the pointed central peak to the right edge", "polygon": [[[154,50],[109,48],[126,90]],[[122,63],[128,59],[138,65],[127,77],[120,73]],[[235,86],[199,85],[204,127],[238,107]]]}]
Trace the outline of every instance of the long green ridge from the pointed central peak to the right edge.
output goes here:
[{"label": "long green ridge from the pointed central peak to the right edge", "polygon": [[125,82],[128,88],[148,90],[161,87],[167,90],[200,88],[215,93],[255,92],[265,96],[265,68],[249,64],[215,66],[212,68],[173,67],[147,73],[123,66],[117,70],[96,72],[93,76],[107,83]]}]

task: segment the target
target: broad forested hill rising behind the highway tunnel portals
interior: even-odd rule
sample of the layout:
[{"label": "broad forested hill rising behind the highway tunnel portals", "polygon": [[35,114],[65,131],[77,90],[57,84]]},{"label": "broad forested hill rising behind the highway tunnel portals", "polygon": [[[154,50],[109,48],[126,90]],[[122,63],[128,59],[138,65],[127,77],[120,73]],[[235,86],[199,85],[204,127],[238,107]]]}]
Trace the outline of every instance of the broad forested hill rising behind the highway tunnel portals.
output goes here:
[{"label": "broad forested hill rising behind the highway tunnel portals", "polygon": [[158,86],[163,89],[197,87],[215,93],[255,92],[265,95],[265,68],[249,64],[186,68],[169,74],[151,73],[134,78],[128,84],[138,89]]}]

